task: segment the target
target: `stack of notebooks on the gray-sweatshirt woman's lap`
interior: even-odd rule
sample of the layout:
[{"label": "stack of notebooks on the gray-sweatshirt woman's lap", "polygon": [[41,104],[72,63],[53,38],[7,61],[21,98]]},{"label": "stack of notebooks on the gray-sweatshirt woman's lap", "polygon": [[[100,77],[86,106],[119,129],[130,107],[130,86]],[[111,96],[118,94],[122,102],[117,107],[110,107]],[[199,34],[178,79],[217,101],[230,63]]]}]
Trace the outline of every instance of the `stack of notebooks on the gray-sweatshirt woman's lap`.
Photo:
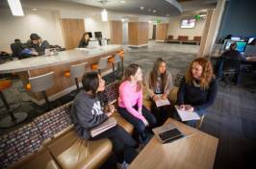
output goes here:
[{"label": "stack of notebooks on the gray-sweatshirt woman's lap", "polygon": [[100,125],[98,125],[94,128],[91,128],[90,129],[90,135],[92,137],[96,136],[99,133],[103,133],[103,132],[115,127],[115,125],[116,125],[115,117],[108,118],[106,121],[104,121]]}]

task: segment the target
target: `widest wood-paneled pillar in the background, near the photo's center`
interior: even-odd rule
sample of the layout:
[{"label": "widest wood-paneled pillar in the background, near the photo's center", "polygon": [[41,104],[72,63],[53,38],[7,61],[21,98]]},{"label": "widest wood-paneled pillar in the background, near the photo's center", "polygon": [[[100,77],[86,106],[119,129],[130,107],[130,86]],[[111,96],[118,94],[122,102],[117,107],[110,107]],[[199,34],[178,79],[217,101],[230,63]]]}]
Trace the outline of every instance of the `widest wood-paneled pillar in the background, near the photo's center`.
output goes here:
[{"label": "widest wood-paneled pillar in the background, near the photo's center", "polygon": [[129,45],[143,45],[148,43],[148,22],[128,23],[128,43]]}]

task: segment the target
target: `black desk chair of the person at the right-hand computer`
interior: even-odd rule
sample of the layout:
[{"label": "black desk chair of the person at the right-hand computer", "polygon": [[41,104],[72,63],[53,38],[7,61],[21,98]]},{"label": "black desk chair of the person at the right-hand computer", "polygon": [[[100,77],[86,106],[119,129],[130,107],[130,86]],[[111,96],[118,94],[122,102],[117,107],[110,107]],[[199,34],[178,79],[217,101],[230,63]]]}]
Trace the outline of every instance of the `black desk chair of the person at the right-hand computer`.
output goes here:
[{"label": "black desk chair of the person at the right-hand computer", "polygon": [[224,81],[225,85],[224,87],[227,86],[227,81],[226,78],[232,74],[236,73],[239,66],[240,66],[241,60],[233,60],[228,57],[224,57],[223,59],[223,66],[221,69],[221,82]]}]

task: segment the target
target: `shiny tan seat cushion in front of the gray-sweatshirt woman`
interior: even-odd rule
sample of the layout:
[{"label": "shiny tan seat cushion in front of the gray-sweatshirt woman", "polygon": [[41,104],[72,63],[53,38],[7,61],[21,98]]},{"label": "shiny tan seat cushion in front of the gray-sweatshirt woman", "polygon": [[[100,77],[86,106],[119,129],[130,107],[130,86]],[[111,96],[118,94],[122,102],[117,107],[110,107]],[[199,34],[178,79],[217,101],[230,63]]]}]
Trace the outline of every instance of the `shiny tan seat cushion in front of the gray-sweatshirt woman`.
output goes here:
[{"label": "shiny tan seat cushion in front of the gray-sweatshirt woman", "polygon": [[112,142],[105,138],[87,141],[79,137],[74,130],[55,138],[47,146],[61,168],[98,168],[112,155]]}]

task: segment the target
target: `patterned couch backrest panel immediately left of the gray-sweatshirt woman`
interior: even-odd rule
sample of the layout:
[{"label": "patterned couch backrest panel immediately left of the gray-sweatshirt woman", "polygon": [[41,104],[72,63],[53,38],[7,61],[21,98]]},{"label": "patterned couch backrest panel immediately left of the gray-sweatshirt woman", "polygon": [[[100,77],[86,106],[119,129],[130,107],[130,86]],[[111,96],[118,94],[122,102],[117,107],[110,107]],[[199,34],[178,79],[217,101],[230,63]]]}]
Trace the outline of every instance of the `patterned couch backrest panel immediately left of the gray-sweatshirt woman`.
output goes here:
[{"label": "patterned couch backrest panel immediately left of the gray-sweatshirt woman", "polygon": [[73,102],[69,102],[34,119],[44,141],[72,125],[70,117],[72,104]]}]

